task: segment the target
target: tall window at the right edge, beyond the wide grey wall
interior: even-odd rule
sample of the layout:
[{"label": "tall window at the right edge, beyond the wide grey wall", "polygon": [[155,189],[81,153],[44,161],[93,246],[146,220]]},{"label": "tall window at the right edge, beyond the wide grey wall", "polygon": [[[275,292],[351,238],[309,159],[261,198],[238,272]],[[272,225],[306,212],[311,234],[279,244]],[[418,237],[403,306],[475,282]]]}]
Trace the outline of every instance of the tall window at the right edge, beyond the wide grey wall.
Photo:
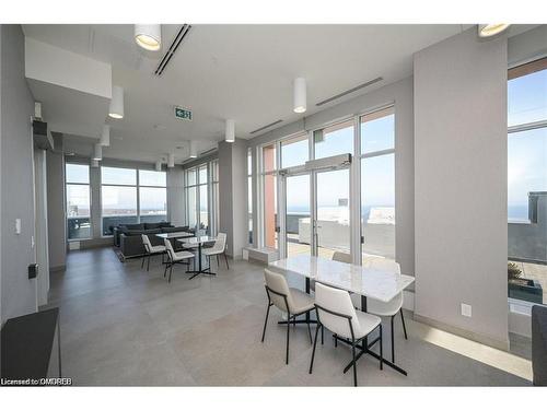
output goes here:
[{"label": "tall window at the right edge, beyond the wide grey wall", "polygon": [[547,303],[547,58],[508,79],[508,294]]}]

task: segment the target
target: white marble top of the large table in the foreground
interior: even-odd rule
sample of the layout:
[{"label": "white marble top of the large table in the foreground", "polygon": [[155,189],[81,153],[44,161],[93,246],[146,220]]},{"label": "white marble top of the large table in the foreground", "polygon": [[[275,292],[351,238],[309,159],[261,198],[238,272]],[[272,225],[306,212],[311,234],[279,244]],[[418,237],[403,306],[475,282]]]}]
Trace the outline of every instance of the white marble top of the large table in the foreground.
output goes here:
[{"label": "white marble top of the large table in the foreground", "polygon": [[389,302],[415,281],[414,277],[407,274],[380,271],[309,255],[277,260],[270,262],[269,267],[382,302]]}]

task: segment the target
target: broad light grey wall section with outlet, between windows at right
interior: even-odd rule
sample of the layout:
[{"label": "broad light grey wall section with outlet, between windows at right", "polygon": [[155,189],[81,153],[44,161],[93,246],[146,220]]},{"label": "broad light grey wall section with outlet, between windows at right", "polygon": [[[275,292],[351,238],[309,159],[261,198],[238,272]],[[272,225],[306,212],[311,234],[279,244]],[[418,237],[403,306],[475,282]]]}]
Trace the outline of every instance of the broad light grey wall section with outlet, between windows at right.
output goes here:
[{"label": "broad light grey wall section with outlet, between windows at right", "polygon": [[[508,347],[507,39],[415,56],[415,314]],[[461,315],[461,303],[473,316]]]}]

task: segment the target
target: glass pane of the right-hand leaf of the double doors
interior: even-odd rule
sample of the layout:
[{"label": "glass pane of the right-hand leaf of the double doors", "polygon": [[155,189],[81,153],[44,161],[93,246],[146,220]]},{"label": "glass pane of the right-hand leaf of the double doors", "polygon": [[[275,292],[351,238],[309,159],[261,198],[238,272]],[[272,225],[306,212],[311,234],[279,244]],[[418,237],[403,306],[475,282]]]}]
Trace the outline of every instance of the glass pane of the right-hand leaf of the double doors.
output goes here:
[{"label": "glass pane of the right-hand leaf of the double doors", "polygon": [[349,168],[316,172],[316,255],[350,253]]}]

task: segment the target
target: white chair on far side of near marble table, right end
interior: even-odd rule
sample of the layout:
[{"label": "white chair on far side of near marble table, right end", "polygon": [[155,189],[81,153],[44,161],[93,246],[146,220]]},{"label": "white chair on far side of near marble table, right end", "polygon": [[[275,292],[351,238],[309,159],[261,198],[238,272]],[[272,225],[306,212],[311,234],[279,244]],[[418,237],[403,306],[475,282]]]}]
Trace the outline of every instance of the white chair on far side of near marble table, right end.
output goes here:
[{"label": "white chair on far side of near marble table, right end", "polygon": [[[385,271],[395,272],[400,274],[400,266],[394,260],[382,259],[382,258],[371,258],[366,263],[368,268]],[[393,320],[397,313],[400,313],[400,320],[403,321],[403,331],[405,332],[405,339],[408,339],[407,327],[405,325],[405,316],[403,315],[403,292],[392,298],[389,302],[381,302],[374,298],[366,301],[366,312],[377,315],[389,317],[392,321],[392,362],[395,363],[395,343],[394,343],[394,327]]]}]

